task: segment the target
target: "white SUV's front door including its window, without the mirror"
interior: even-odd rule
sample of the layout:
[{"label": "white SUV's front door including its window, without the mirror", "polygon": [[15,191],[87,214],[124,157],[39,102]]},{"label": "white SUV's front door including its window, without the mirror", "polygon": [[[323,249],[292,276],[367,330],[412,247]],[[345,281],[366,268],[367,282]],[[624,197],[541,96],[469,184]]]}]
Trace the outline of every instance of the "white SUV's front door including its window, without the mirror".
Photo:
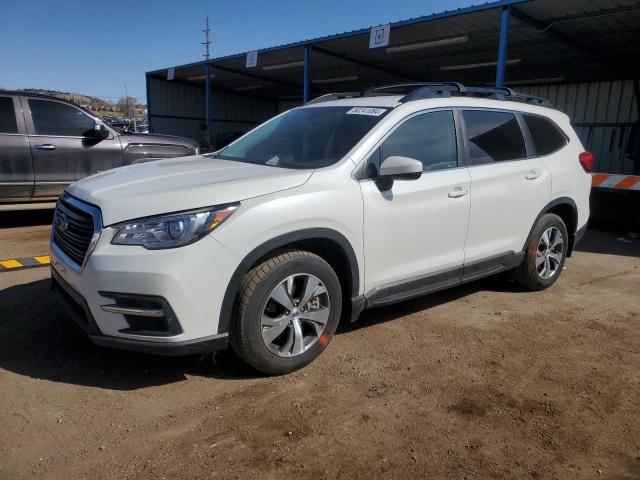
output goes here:
[{"label": "white SUV's front door including its window, without the mirror", "polygon": [[[421,112],[395,127],[368,159],[368,178],[360,185],[369,295],[402,296],[459,281],[470,179],[458,164],[457,143],[452,111]],[[420,160],[423,173],[383,191],[375,181],[378,167],[394,155]]]}]

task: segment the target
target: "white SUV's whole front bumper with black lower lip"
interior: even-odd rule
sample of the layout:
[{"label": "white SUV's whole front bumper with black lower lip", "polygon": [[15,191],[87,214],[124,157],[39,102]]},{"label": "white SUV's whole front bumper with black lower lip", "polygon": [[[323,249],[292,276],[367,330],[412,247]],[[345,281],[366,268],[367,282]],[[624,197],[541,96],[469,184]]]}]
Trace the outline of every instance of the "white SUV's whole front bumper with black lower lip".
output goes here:
[{"label": "white SUV's whole front bumper with black lower lip", "polygon": [[[220,313],[238,258],[211,236],[181,248],[146,250],[112,245],[113,233],[102,230],[82,268],[51,243],[54,291],[91,341],[170,355],[225,348],[228,332],[219,328]],[[142,313],[158,314],[168,328],[145,328],[154,319],[134,318],[126,307],[135,304],[122,312],[119,298],[142,302]],[[150,309],[154,300],[170,315]]]}]

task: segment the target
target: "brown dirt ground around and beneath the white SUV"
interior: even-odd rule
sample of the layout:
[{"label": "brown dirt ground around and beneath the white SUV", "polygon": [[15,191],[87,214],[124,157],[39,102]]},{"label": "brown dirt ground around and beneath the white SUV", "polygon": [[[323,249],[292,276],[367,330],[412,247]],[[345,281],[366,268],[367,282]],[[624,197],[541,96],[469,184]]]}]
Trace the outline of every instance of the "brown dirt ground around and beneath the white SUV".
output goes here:
[{"label": "brown dirt ground around and beneath the white SUV", "polygon": [[[46,253],[50,212],[0,220]],[[640,479],[640,241],[556,285],[492,278],[342,326],[311,366],[100,348],[46,268],[0,273],[0,478]]]}]

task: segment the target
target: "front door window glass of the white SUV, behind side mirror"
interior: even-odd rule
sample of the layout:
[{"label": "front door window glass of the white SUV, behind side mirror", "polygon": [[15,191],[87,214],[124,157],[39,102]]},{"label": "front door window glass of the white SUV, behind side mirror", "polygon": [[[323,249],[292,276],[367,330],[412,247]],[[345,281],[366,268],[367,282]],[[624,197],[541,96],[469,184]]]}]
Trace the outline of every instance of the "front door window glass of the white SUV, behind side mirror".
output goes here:
[{"label": "front door window glass of the white SUV, behind side mirror", "polygon": [[420,160],[425,172],[455,168],[458,151],[453,112],[423,113],[402,123],[369,158],[368,176],[377,176],[382,160],[392,156]]}]

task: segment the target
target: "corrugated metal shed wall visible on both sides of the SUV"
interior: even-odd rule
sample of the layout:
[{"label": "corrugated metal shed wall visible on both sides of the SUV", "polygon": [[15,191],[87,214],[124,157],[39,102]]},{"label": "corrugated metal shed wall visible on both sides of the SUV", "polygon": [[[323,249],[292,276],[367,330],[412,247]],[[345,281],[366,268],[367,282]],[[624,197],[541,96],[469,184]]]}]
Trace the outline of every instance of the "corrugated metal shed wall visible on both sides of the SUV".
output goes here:
[{"label": "corrugated metal shed wall visible on both sides of the SUV", "polygon": [[[205,117],[204,89],[157,78],[150,79],[149,88],[151,115],[193,117],[153,117],[154,132],[188,137],[204,144],[206,135],[200,130]],[[595,155],[596,171],[632,172],[632,162],[624,156],[631,125],[638,119],[632,80],[536,85],[517,90],[546,97],[569,115],[585,148]],[[271,102],[214,91],[213,134],[249,131],[300,103]]]}]

